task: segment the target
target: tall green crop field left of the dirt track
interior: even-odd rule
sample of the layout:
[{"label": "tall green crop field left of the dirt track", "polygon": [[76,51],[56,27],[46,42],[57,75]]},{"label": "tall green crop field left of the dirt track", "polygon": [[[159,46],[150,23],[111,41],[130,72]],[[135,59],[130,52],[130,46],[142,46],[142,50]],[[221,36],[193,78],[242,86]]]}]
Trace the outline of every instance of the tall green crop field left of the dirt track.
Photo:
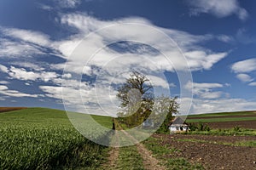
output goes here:
[{"label": "tall green crop field left of the dirt track", "polygon": [[[93,116],[112,127],[112,118]],[[0,113],[0,169],[94,169],[107,147],[85,139],[65,111],[28,108]]]}]

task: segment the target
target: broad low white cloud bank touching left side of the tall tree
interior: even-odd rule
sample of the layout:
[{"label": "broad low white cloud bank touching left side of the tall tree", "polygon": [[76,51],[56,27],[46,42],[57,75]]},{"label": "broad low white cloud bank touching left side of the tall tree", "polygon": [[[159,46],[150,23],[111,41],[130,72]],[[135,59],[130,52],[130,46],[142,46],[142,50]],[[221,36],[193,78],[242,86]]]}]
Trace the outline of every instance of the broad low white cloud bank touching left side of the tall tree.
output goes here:
[{"label": "broad low white cloud bank touching left side of the tall tree", "polygon": [[119,101],[116,99],[116,91],[105,86],[91,87],[77,82],[73,87],[70,80],[64,82],[70,86],[40,86],[46,96],[55,99],[63,99],[68,111],[79,111],[95,115],[115,116],[119,111]]}]

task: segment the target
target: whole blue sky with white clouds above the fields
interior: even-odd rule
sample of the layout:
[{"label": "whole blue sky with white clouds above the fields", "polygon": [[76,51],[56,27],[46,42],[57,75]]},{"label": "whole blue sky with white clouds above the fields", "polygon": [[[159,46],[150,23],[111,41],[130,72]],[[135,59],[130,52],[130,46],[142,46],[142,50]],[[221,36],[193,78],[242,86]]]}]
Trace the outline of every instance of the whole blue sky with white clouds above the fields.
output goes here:
[{"label": "whole blue sky with white clouds above the fields", "polygon": [[1,1],[0,106],[114,115],[139,69],[189,114],[256,110],[255,3]]}]

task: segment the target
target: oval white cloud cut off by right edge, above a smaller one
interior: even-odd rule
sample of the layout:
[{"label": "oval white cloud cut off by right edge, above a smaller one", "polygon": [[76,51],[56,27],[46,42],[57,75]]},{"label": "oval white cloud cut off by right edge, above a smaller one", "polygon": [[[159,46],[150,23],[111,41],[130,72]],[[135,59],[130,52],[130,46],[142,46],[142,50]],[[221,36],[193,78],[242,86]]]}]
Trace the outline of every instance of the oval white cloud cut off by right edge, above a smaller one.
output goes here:
[{"label": "oval white cloud cut off by right edge, above a smaller one", "polygon": [[238,61],[231,66],[231,70],[236,73],[256,71],[256,59]]}]

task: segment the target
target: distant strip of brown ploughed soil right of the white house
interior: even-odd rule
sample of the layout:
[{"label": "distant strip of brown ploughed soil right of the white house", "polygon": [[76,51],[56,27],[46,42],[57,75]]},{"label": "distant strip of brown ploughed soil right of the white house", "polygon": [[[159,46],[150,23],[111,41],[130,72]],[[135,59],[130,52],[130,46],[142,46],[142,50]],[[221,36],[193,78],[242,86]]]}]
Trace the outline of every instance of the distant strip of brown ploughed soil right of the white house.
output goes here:
[{"label": "distant strip of brown ploughed soil right of the white house", "polygon": [[256,121],[234,121],[234,122],[206,122],[212,128],[243,127],[256,129]]}]

